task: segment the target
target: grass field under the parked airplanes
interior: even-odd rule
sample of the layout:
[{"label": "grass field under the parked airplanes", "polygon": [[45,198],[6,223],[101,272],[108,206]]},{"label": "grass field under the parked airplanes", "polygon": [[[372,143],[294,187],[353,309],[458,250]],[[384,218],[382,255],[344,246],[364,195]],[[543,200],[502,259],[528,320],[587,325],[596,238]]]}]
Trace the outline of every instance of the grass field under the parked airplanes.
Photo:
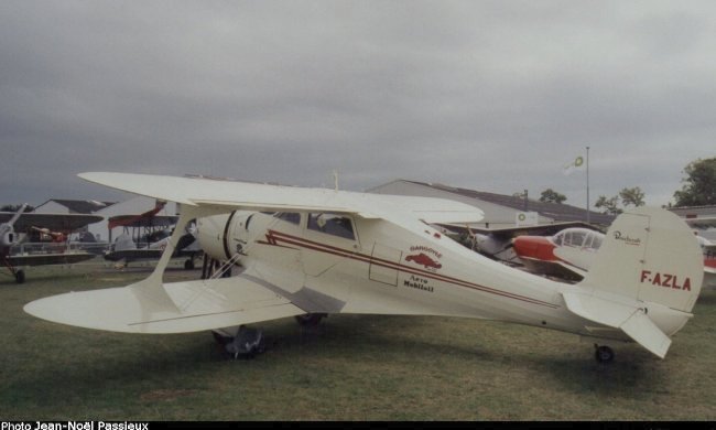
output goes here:
[{"label": "grass field under the parked airplanes", "polygon": [[0,278],[2,420],[716,419],[715,291],[702,292],[665,359],[617,343],[610,365],[576,335],[477,320],[330,315],[308,330],[284,319],[260,324],[264,354],[232,361],[209,333],[107,333],[22,311],[148,270],[33,268],[23,286]]}]

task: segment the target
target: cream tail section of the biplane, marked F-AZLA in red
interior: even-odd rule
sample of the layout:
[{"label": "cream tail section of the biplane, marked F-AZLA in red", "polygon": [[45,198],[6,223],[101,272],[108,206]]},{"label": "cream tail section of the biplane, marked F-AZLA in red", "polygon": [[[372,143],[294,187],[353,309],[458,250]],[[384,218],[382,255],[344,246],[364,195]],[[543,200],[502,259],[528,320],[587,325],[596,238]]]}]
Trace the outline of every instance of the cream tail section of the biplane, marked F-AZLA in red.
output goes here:
[{"label": "cream tail section of the biplane, marked F-AZLA in red", "polygon": [[660,208],[620,215],[585,279],[563,293],[587,320],[621,329],[660,357],[688,319],[701,292],[703,256],[691,229]]}]

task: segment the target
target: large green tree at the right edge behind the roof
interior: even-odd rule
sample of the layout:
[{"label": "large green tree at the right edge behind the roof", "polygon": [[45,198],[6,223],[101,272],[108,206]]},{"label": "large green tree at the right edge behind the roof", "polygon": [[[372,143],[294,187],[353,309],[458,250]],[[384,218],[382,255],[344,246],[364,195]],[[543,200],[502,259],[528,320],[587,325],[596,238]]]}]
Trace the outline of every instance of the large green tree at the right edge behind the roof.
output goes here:
[{"label": "large green tree at the right edge behind the roof", "polygon": [[683,173],[684,185],[674,193],[676,206],[716,205],[716,157],[692,161]]}]

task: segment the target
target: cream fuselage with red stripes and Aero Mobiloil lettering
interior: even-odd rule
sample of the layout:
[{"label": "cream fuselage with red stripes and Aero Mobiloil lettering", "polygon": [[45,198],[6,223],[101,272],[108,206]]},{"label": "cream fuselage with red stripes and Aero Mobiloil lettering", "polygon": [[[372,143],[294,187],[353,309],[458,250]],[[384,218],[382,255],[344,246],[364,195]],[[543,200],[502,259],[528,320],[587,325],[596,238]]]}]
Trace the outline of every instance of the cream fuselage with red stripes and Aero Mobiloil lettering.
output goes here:
[{"label": "cream fuselage with red stripes and Aero Mobiloil lettering", "polygon": [[[415,235],[382,219],[330,214],[322,227],[318,215],[326,216],[235,212],[199,219],[198,237],[214,258],[236,256],[303,297],[308,312],[478,318],[593,334],[585,326],[595,324],[564,305],[560,292],[569,286],[485,258],[428,225]],[[616,330],[599,336],[625,338]]]}]

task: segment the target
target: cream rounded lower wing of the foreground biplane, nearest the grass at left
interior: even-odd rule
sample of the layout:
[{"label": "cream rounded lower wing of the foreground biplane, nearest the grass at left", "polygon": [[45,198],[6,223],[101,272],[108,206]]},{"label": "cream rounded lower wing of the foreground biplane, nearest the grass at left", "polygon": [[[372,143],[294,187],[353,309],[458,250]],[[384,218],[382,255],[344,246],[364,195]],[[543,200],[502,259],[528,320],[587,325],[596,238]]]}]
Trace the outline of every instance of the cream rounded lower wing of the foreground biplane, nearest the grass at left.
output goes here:
[{"label": "cream rounded lower wing of the foreground biplane, nearest the grass at left", "polygon": [[[162,286],[158,286],[162,287]],[[305,313],[254,280],[234,277],[163,286],[172,303],[148,300],[145,286],[69,292],[28,303],[31,315],[124,333],[186,333]]]}]

